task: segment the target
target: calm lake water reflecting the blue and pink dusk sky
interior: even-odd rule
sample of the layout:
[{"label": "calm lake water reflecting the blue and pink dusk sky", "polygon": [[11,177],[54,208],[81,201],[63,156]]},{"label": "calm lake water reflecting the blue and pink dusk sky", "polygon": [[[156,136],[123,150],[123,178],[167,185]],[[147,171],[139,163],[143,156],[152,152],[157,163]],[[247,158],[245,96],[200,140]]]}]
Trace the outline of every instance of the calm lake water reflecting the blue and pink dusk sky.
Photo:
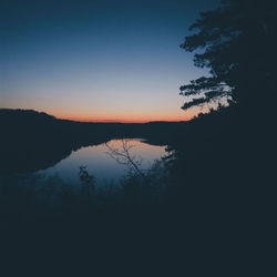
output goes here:
[{"label": "calm lake water reflecting the blue and pink dusk sky", "polygon": [[[153,165],[155,160],[161,158],[166,154],[166,146],[155,146],[143,142],[143,140],[125,140],[130,148],[130,154],[135,156],[138,161],[142,161],[140,166],[141,170],[147,170]],[[109,146],[113,150],[122,150],[122,140],[112,140]],[[107,148],[105,144],[96,146],[82,147],[75,152],[72,152],[70,156],[61,161],[53,167],[50,167],[39,173],[45,175],[58,174],[63,181],[69,183],[79,183],[79,168],[80,166],[86,166],[86,171],[92,174],[98,184],[111,184],[111,182],[116,183],[122,176],[127,173],[127,166],[119,164],[114,158],[112,158],[111,150]]]}]

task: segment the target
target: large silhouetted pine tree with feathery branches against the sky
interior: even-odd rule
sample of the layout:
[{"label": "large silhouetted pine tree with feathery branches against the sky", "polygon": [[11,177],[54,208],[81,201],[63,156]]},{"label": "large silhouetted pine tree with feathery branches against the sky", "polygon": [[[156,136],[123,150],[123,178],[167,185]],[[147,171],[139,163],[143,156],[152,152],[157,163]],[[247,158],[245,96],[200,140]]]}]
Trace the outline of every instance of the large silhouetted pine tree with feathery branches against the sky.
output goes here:
[{"label": "large silhouetted pine tree with feathery branches against the sky", "polygon": [[244,109],[266,107],[276,99],[275,0],[222,0],[215,10],[201,13],[181,48],[193,52],[202,76],[181,86],[189,96],[184,110],[227,99]]}]

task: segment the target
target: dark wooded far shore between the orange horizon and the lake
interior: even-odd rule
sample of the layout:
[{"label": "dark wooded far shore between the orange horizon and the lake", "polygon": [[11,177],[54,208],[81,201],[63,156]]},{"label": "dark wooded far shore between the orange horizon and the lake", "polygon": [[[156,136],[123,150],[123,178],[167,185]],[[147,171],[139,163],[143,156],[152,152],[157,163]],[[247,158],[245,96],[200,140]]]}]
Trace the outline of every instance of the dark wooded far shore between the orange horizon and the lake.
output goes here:
[{"label": "dark wooded far shore between the orange horizon and the lake", "polygon": [[168,144],[185,122],[83,123],[31,110],[0,110],[0,172],[34,172],[53,166],[82,146],[112,138],[145,138]]}]

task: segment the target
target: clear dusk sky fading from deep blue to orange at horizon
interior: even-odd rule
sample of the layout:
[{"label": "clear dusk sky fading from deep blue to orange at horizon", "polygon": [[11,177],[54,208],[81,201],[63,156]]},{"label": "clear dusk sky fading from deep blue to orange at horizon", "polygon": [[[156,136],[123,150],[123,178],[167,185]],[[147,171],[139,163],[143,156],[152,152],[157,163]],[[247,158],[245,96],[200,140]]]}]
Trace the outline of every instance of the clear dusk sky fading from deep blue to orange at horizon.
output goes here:
[{"label": "clear dusk sky fading from deep blue to orange at horizon", "polygon": [[205,71],[179,49],[217,0],[4,0],[0,107],[81,121],[179,121],[178,88]]}]

